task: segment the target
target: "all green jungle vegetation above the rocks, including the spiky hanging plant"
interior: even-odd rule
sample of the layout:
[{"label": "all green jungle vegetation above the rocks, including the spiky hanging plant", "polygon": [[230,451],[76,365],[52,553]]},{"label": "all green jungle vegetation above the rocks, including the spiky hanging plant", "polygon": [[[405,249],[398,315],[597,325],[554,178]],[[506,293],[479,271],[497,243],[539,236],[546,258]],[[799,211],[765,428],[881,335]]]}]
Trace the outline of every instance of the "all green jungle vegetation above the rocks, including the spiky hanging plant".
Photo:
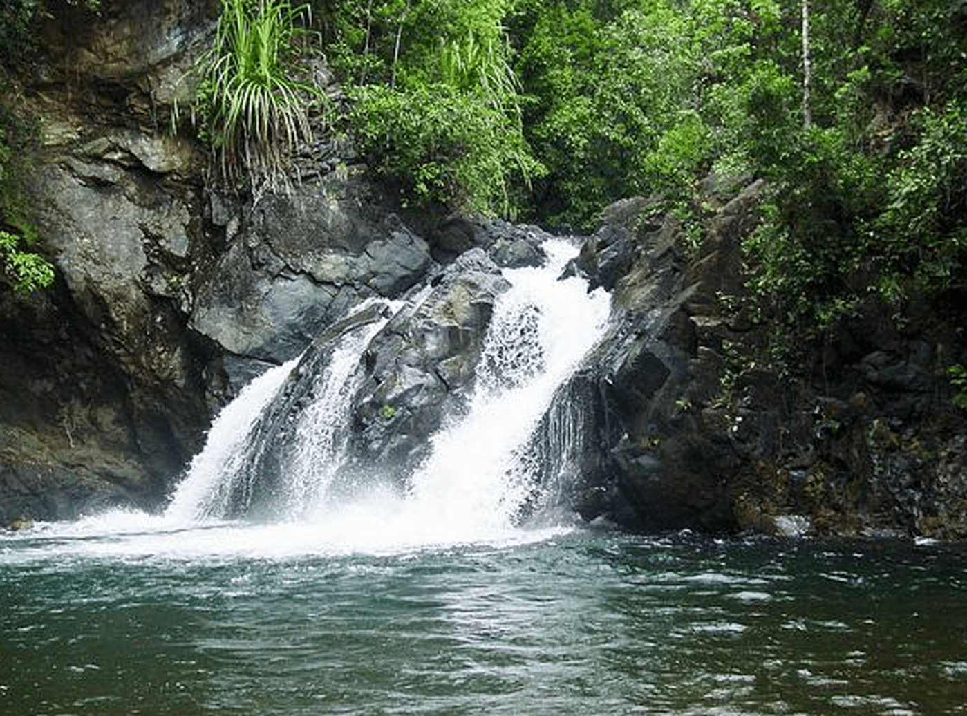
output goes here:
[{"label": "all green jungle vegetation above the rocks, including the spiky hanging plant", "polygon": [[967,0],[223,0],[233,17],[253,42],[220,30],[196,109],[254,174],[305,138],[321,52],[347,98],[331,130],[405,205],[587,230],[622,197],[693,216],[705,178],[764,178],[748,285],[790,326],[965,288]]}]

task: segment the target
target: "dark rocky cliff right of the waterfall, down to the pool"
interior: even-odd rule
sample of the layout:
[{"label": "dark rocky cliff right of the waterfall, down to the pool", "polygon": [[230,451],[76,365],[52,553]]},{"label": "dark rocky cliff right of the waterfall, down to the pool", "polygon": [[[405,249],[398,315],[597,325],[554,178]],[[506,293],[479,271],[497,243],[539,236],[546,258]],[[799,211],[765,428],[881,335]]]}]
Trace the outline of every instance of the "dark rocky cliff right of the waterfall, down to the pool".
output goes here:
[{"label": "dark rocky cliff right of the waterfall, down to the pool", "polygon": [[742,281],[762,189],[721,204],[688,258],[656,200],[604,213],[577,270],[613,286],[612,323],[535,437],[548,496],[634,530],[964,537],[962,334],[927,320],[938,306],[898,322],[870,300],[777,356]]}]

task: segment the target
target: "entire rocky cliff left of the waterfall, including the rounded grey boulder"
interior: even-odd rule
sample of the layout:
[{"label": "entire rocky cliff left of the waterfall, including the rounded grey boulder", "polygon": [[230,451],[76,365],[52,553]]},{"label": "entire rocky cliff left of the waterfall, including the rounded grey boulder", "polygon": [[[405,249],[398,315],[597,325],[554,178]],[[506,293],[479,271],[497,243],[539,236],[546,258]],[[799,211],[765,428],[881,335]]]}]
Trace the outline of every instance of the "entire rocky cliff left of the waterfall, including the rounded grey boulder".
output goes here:
[{"label": "entire rocky cliff left of the waterfall, including the rounded grey boulder", "polygon": [[24,59],[16,103],[42,124],[36,222],[58,278],[0,296],[0,522],[157,507],[250,377],[435,265],[335,139],[299,158],[290,196],[206,185],[168,116],[217,6],[67,8]]}]

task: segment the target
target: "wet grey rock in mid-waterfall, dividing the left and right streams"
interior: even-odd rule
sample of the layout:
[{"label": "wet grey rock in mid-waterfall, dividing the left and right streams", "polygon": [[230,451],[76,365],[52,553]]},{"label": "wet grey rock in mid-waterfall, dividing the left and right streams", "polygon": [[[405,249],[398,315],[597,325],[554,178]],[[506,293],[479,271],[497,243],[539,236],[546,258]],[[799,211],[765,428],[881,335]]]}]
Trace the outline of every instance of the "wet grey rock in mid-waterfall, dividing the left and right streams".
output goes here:
[{"label": "wet grey rock in mid-waterfall, dividing the left and right streams", "polygon": [[[539,238],[534,231],[530,235],[532,241]],[[504,255],[504,243],[481,243],[489,243],[498,258]],[[310,424],[313,435],[320,431],[320,409],[338,414],[323,418],[333,421],[322,431],[330,445],[326,465],[311,468],[312,479],[326,473],[320,499],[374,484],[404,490],[445,419],[466,410],[494,301],[509,287],[494,260],[476,246],[434,272],[406,300],[364,303],[326,329],[259,417],[248,455],[218,505],[219,516],[251,518],[310,507],[288,504],[287,485],[300,470],[297,456],[307,453],[304,426]],[[327,393],[334,389],[330,364],[346,336],[380,320],[385,325],[357,349],[358,362],[345,385],[335,387],[345,393],[343,404],[340,395]],[[309,500],[312,492],[304,489],[300,499]]]}]

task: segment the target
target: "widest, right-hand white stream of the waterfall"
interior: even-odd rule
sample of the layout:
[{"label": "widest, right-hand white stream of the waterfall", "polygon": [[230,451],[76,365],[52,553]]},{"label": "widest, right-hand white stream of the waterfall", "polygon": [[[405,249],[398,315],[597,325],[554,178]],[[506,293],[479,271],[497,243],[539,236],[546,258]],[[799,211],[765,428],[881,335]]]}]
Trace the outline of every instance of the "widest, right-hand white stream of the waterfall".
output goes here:
[{"label": "widest, right-hand white stream of the waterfall", "polygon": [[468,415],[433,440],[414,475],[408,508],[414,523],[454,533],[508,528],[540,475],[526,446],[566,381],[603,331],[609,301],[578,278],[559,280],[570,243],[544,244],[540,269],[505,271],[478,368]]}]

